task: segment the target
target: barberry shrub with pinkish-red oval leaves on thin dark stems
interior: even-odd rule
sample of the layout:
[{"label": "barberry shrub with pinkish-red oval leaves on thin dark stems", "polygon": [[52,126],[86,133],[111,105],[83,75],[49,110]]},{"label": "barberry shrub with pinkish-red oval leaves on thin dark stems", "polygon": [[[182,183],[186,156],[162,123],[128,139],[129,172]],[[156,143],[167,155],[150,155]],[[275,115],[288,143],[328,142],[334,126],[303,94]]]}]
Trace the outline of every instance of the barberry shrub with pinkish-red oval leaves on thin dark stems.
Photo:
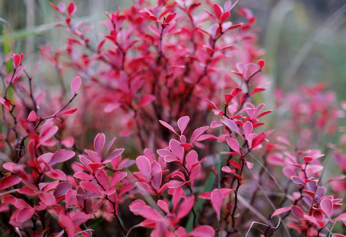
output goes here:
[{"label": "barberry shrub with pinkish-red oval leaves on thin dark stems", "polygon": [[136,1],[106,12],[96,45],[73,1],[51,4],[72,34],[41,48],[54,93],[23,54],[0,67],[2,235],[345,236],[346,106],[322,84],[278,89],[276,125],[236,3]]}]

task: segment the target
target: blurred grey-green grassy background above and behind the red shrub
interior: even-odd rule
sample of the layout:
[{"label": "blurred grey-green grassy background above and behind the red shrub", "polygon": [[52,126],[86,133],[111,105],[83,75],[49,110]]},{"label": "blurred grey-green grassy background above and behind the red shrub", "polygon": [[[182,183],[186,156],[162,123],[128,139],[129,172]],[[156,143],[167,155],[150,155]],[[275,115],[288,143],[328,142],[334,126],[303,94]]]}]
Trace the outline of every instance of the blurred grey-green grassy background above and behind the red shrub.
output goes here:
[{"label": "blurred grey-green grassy background above and behind the red shrub", "polygon": [[[63,2],[67,4],[69,0]],[[94,35],[89,37],[97,41],[104,30],[99,24],[106,19],[104,11],[117,11],[131,1],[75,0],[75,3],[79,19],[74,20],[94,25],[89,33]],[[240,7],[251,9],[257,17],[258,44],[266,51],[264,59],[271,88],[280,86],[288,91],[301,83],[323,81],[336,91],[339,100],[346,100],[346,0],[240,0],[236,8]],[[49,0],[0,0],[0,51],[4,51],[3,43],[8,38],[11,50],[24,53],[27,68],[31,68],[40,60],[40,45],[63,47],[69,33],[53,27],[58,23],[54,13]],[[234,19],[237,20],[242,19]],[[56,78],[56,71],[50,67],[48,63],[40,66],[41,79]]]}]

